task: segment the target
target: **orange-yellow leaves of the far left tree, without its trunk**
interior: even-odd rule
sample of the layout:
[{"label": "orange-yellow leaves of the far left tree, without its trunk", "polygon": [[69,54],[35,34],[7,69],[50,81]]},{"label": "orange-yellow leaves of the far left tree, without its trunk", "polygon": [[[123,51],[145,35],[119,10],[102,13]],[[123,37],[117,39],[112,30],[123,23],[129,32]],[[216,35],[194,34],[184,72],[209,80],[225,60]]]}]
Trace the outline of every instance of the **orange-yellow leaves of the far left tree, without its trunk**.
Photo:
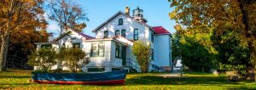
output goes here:
[{"label": "orange-yellow leaves of the far left tree, without its trunk", "polygon": [[[15,5],[10,5],[12,3]],[[38,1],[3,0],[0,3],[0,12],[1,33],[10,32],[12,45],[21,44],[22,48],[34,48],[33,42],[38,42],[41,37],[38,33],[40,30],[36,29],[45,29],[47,24],[43,17],[44,10],[38,7]]]}]

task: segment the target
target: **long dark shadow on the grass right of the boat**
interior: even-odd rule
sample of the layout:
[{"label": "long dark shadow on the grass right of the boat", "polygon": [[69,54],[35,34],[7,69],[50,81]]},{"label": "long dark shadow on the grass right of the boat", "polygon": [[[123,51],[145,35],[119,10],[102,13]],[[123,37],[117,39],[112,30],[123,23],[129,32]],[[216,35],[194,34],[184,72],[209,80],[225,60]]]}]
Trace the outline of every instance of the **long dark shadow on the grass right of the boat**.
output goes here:
[{"label": "long dark shadow on the grass right of the boat", "polygon": [[[131,78],[127,78],[125,81],[125,85],[200,85],[225,87],[227,89],[247,88],[243,87],[245,86],[245,83],[251,82],[228,82],[226,76],[191,76],[187,78],[164,78],[161,76],[133,76]],[[240,85],[242,87],[237,87],[237,85]],[[256,87],[249,89],[256,89]]]}]

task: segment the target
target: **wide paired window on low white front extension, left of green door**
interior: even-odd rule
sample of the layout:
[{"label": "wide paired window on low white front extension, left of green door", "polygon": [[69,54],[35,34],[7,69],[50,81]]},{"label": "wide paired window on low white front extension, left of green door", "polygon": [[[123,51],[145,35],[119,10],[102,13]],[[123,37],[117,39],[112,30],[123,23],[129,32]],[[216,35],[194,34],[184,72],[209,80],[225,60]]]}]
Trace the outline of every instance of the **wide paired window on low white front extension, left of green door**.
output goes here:
[{"label": "wide paired window on low white front extension, left of green door", "polygon": [[104,43],[99,42],[99,43],[92,43],[91,44],[91,57],[103,57],[104,56]]}]

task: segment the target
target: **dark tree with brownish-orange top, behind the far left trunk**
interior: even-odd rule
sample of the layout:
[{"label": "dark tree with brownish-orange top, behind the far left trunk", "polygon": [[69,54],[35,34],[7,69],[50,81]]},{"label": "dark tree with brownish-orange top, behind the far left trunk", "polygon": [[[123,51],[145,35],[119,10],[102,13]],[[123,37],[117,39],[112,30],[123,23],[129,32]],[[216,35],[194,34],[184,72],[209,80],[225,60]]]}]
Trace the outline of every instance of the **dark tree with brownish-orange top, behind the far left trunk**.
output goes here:
[{"label": "dark tree with brownish-orange top, behind the far left trunk", "polygon": [[[27,56],[36,48],[35,42],[48,42],[50,34],[45,30],[24,30],[11,33],[6,60],[7,68],[30,69]],[[19,59],[17,59],[19,58]]]}]

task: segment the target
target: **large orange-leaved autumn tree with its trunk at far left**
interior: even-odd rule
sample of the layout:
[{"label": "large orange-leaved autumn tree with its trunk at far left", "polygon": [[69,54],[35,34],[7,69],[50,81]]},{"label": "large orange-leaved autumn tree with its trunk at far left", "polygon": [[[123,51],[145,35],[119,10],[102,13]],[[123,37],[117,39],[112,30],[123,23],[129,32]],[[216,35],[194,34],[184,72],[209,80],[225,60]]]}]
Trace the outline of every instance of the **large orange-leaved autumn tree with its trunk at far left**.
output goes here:
[{"label": "large orange-leaved autumn tree with its trunk at far left", "polygon": [[8,48],[22,44],[34,48],[33,42],[45,41],[46,21],[42,0],[0,1],[0,70],[5,70]]}]

